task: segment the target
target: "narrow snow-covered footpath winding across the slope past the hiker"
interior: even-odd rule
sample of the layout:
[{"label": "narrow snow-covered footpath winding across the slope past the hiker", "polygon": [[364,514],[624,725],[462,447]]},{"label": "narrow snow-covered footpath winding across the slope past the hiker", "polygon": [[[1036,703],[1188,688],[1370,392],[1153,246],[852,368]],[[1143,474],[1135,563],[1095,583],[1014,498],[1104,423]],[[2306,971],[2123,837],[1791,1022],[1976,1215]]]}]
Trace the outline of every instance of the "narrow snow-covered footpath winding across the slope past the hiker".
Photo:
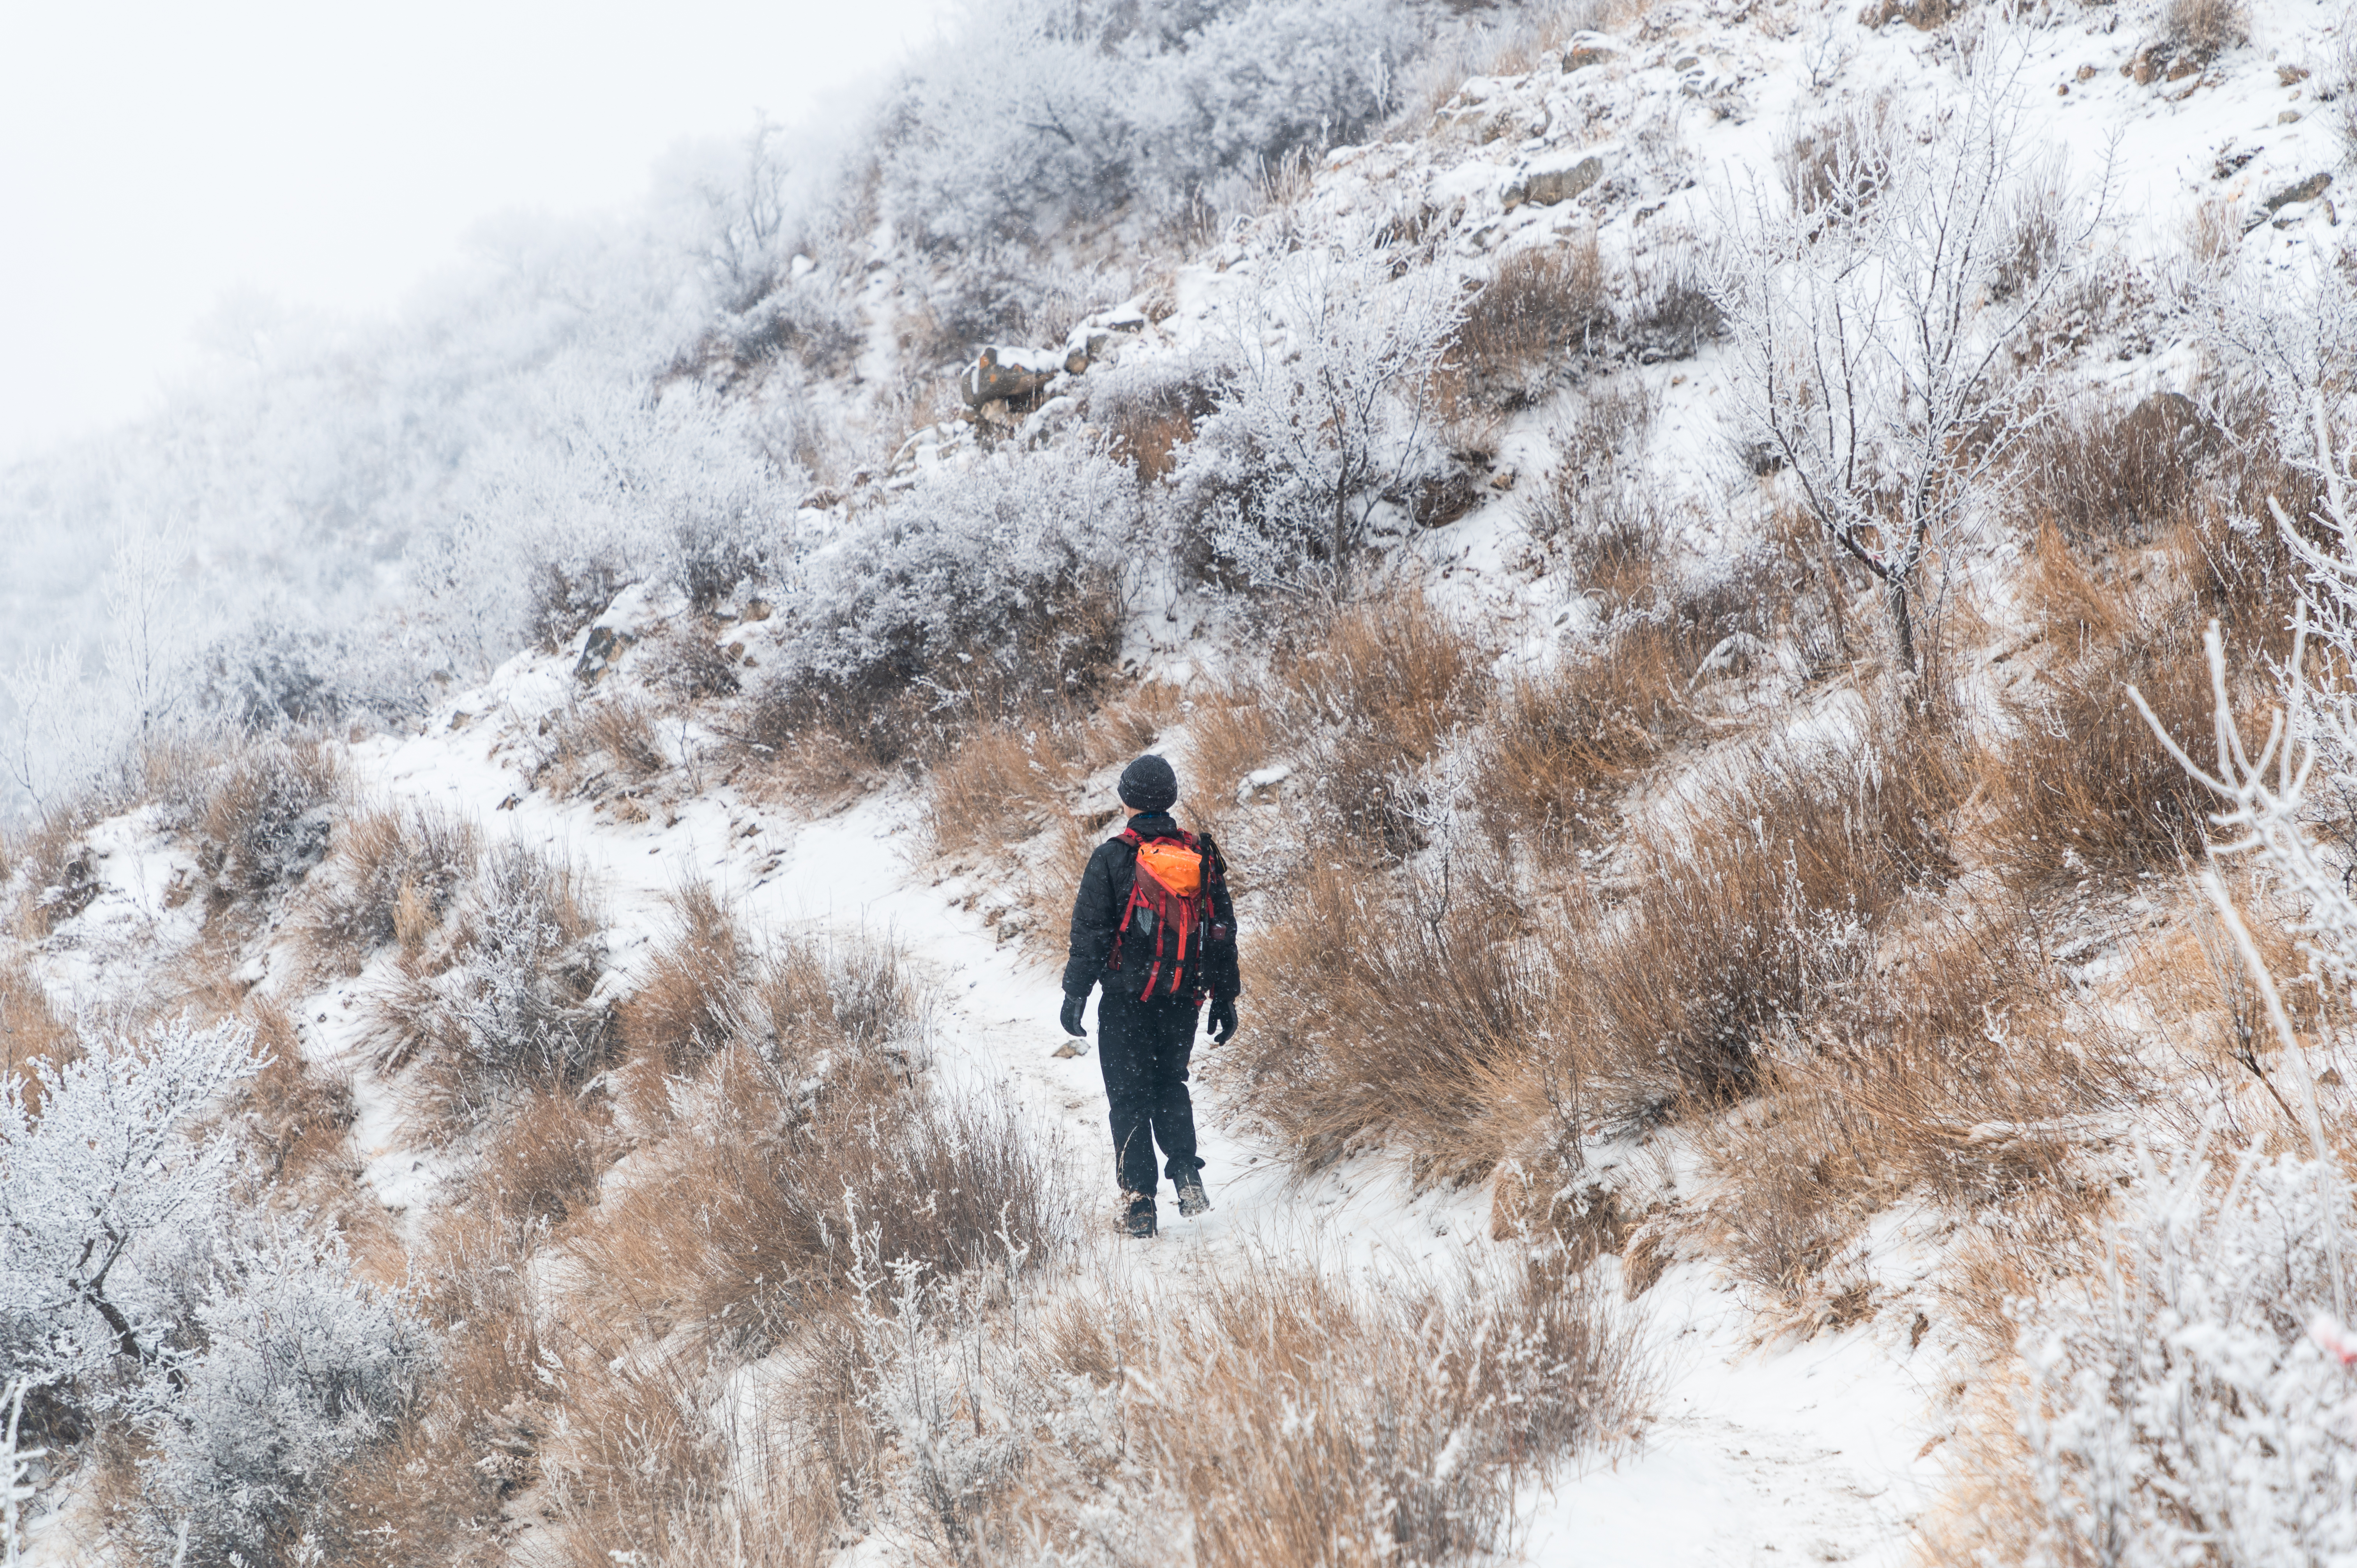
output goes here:
[{"label": "narrow snow-covered footpath winding across the slope past the hiker", "polygon": [[[530,686],[559,677],[547,665],[502,674],[509,712]],[[471,700],[483,703],[483,693]],[[952,1085],[1004,1087],[1035,1129],[1072,1158],[1087,1205],[1084,1236],[1117,1278],[1183,1302],[1202,1280],[1254,1257],[1447,1278],[1492,1245],[1485,1188],[1414,1193],[1398,1165],[1381,1158],[1294,1179],[1273,1151],[1228,1125],[1216,1089],[1200,1082],[1197,1120],[1216,1207],[1183,1221],[1167,1203],[1155,1243],[1115,1240],[1094,1033],[1087,1054],[1054,1054],[1065,1040],[1056,1028],[1056,967],[959,908],[976,882],[940,875],[922,854],[922,804],[907,790],[808,818],[707,788],[646,823],[620,825],[589,804],[530,792],[502,759],[504,747],[483,733],[493,729],[436,726],[429,736],[363,743],[354,771],[379,795],[438,799],[490,835],[514,832],[570,856],[596,877],[615,962],[625,969],[660,941],[669,896],[693,879],[728,896],[754,934],[891,936],[933,1000],[933,1068]],[[351,1059],[354,1014],[306,1007],[306,1030],[311,1049]],[[1197,1045],[1197,1059],[1209,1049]],[[358,1137],[372,1155],[370,1179],[389,1203],[431,1198],[441,1172],[403,1148],[382,1096],[368,1101]],[[1945,1424],[1933,1417],[1933,1389],[1914,1370],[1940,1363],[1930,1346],[1909,1356],[1883,1320],[1754,1349],[1758,1320],[1706,1264],[1673,1266],[1640,1311],[1648,1351],[1664,1370],[1657,1419],[1638,1452],[1534,1485],[1508,1561],[1895,1568],[1909,1559],[1912,1521],[1942,1481],[1935,1431]]]}]

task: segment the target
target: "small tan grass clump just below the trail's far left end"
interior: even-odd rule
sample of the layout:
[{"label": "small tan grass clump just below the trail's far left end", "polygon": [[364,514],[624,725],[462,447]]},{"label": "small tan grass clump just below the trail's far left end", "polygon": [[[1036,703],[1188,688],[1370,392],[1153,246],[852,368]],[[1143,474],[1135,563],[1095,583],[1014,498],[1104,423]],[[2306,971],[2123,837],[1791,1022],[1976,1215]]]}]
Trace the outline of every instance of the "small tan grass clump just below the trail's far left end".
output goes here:
[{"label": "small tan grass clump just below the trail's far left end", "polygon": [[346,811],[330,837],[330,872],[295,910],[306,964],[349,976],[387,943],[415,955],[474,879],[478,858],[474,823],[438,806]]}]

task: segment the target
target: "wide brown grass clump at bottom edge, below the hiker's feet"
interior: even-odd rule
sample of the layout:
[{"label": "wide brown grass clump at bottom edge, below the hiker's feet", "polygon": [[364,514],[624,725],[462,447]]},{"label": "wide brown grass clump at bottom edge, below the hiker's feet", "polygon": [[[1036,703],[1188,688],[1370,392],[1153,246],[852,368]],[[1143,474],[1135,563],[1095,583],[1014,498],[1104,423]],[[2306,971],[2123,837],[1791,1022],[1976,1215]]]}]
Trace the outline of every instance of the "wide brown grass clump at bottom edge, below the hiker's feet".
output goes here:
[{"label": "wide brown grass clump at bottom edge, below the hiker's feet", "polygon": [[1516,1488],[1631,1438],[1650,1396],[1629,1332],[1560,1254],[1457,1292],[1254,1264],[1186,1313],[1153,1311],[1115,1299],[1042,1339],[1070,1375],[1120,1389],[1136,1368],[1155,1389],[1153,1417],[1127,1419],[1200,1561],[1494,1551]]}]

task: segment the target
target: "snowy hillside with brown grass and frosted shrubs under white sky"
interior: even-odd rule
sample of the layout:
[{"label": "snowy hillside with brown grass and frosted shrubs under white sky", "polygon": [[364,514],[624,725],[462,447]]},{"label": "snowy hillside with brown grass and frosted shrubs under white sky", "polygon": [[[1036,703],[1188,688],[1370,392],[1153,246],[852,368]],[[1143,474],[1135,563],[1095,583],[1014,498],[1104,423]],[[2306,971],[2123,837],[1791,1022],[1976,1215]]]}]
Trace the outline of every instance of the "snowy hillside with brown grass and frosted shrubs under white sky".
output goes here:
[{"label": "snowy hillside with brown grass and frosted shrubs under white sky", "polygon": [[335,611],[189,627],[224,507],[14,686],[35,1561],[2352,1549],[2357,24],[1195,9],[141,434]]}]

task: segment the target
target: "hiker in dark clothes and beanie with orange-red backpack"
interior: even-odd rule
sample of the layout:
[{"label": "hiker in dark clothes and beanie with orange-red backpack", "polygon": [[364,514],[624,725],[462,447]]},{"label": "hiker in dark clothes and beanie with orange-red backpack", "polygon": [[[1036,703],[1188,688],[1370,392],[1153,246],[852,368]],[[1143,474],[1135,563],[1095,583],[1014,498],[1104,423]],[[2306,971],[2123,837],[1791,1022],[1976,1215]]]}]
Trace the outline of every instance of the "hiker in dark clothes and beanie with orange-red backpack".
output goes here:
[{"label": "hiker in dark clothes and beanie with orange-red backpack", "polygon": [[1211,1045],[1235,1035],[1235,905],[1228,865],[1209,837],[1171,821],[1178,773],[1155,755],[1122,769],[1129,828],[1089,856],[1072,901],[1072,957],[1063,967],[1063,1030],[1087,1033],[1080,1009],[1098,981],[1096,1059],[1113,1106],[1113,1162],[1131,1236],[1155,1233],[1155,1144],[1178,1188],[1178,1212],[1211,1207],[1195,1155],[1195,1103],[1186,1063],[1195,1012],[1211,997]]}]

